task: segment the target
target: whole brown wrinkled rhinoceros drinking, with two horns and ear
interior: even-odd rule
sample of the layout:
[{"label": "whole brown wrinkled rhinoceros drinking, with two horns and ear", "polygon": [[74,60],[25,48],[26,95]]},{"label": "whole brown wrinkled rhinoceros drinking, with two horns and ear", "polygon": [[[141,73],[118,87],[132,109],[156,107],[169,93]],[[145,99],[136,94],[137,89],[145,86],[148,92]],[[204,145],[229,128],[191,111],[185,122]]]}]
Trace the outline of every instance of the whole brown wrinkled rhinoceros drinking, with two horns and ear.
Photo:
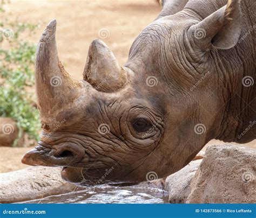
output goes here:
[{"label": "whole brown wrinkled rhinoceros drinking, with two horns and ear", "polygon": [[37,48],[42,134],[24,164],[63,166],[77,185],[131,185],[180,170],[211,139],[255,139],[254,0],[163,1],[124,66],[93,40],[81,81],[55,33],[52,20]]}]

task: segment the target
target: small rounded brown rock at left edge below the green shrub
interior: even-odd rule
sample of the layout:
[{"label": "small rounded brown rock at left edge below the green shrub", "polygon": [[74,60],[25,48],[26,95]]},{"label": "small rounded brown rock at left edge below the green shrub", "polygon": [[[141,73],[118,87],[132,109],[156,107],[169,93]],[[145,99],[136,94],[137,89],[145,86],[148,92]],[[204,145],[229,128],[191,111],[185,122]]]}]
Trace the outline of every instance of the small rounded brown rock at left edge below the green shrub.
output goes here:
[{"label": "small rounded brown rock at left edge below the green shrub", "polygon": [[12,146],[18,137],[18,127],[11,118],[0,117],[0,146]]}]

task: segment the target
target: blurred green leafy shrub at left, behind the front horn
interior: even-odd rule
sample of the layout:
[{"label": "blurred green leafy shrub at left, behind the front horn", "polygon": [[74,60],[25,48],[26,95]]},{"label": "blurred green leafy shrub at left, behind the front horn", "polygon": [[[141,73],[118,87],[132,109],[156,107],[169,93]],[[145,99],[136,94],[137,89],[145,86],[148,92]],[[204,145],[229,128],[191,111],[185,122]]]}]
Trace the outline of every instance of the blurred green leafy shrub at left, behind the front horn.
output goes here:
[{"label": "blurred green leafy shrub at left, behind the front horn", "polygon": [[[0,16],[2,13],[1,8]],[[25,33],[32,34],[36,27],[6,19],[0,22],[0,116],[11,117],[19,129],[38,140],[39,113],[32,106],[35,95],[31,94],[36,45],[22,38]]]}]

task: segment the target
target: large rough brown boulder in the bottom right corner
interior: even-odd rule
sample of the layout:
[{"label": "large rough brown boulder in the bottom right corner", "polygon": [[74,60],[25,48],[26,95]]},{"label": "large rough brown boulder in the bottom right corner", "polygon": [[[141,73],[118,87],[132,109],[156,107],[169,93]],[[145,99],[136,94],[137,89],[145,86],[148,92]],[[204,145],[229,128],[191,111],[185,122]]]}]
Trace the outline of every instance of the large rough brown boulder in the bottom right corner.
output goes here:
[{"label": "large rough brown boulder in the bottom right corner", "polygon": [[256,203],[256,150],[240,145],[207,148],[186,203]]}]

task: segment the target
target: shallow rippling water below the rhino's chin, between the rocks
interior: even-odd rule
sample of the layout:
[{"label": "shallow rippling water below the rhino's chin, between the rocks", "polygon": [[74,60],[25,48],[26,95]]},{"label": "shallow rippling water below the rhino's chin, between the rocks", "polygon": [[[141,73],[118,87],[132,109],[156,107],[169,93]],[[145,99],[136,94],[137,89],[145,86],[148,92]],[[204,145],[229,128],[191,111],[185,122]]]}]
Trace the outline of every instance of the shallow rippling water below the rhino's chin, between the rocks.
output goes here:
[{"label": "shallow rippling water below the rhino's chin, between the rocks", "polygon": [[102,186],[48,196],[21,203],[167,203],[168,194],[158,188]]}]

